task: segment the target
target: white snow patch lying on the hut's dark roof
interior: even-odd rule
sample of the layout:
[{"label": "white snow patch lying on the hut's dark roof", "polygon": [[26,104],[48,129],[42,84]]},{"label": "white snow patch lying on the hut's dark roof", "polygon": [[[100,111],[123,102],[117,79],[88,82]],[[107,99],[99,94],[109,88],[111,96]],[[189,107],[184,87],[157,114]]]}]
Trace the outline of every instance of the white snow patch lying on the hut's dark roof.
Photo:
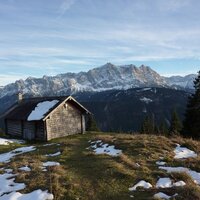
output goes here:
[{"label": "white snow patch lying on the hut's dark roof", "polygon": [[31,114],[28,116],[28,121],[33,120],[41,120],[45,114],[53,108],[59,101],[58,100],[52,100],[52,101],[44,101],[37,104],[35,109],[31,112]]}]

